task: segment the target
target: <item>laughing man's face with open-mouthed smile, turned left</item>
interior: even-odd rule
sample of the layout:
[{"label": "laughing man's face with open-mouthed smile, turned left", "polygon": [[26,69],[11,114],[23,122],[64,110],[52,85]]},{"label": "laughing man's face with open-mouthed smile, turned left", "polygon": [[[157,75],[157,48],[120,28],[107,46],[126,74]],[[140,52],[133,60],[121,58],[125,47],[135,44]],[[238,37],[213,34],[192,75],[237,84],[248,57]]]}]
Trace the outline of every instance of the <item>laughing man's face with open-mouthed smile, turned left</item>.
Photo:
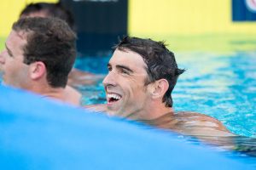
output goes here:
[{"label": "laughing man's face with open-mouthed smile, turned left", "polygon": [[146,67],[141,55],[129,49],[114,51],[103,80],[111,115],[139,118],[145,114],[150,99]]}]

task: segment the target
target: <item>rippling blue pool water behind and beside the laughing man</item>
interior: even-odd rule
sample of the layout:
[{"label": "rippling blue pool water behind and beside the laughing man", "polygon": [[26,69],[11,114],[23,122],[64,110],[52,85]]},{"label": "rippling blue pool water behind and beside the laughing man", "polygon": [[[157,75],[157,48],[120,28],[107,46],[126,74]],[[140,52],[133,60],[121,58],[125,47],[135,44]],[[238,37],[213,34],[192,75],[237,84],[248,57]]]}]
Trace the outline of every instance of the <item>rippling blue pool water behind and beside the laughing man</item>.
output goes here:
[{"label": "rippling blue pool water behind and beside the laughing man", "polygon": [[[108,57],[79,58],[76,67],[107,74]],[[256,137],[256,52],[229,54],[179,53],[177,64],[186,71],[173,92],[175,111],[213,116],[232,133]],[[84,105],[105,102],[102,80],[82,86]],[[256,145],[256,144],[255,144]]]}]

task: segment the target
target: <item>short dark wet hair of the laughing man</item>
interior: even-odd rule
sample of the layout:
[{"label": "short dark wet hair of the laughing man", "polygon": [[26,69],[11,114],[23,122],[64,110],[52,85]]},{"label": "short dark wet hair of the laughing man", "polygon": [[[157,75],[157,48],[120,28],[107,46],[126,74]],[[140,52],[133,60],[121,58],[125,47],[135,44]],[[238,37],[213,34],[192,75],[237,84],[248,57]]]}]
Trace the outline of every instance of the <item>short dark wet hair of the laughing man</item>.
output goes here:
[{"label": "short dark wet hair of the laughing man", "polygon": [[163,97],[163,102],[166,103],[166,107],[172,107],[172,90],[176,85],[177,77],[185,70],[177,68],[175,56],[166,48],[165,42],[127,36],[121,39],[113,49],[121,51],[128,49],[143,57],[148,72],[145,85],[162,78],[166,79],[169,88]]}]

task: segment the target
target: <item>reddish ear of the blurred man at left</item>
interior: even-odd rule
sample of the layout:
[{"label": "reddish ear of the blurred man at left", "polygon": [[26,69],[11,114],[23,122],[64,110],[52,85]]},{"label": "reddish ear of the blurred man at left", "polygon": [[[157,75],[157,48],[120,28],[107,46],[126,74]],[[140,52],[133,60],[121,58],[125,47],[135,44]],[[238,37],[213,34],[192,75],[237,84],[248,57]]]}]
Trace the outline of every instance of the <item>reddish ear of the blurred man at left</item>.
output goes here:
[{"label": "reddish ear of the blurred man at left", "polygon": [[32,80],[38,80],[41,77],[44,77],[46,74],[46,67],[42,61],[34,62],[30,65],[30,77]]}]

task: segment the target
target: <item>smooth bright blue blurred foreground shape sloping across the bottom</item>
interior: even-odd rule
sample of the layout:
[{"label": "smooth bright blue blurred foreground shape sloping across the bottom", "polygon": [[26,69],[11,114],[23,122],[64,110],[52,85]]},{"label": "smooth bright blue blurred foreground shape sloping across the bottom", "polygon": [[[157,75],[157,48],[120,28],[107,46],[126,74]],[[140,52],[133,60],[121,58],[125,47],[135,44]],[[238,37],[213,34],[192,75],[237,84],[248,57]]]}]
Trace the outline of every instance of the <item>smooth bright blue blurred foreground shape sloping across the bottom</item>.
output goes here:
[{"label": "smooth bright blue blurred foreground shape sloping across the bottom", "polygon": [[117,118],[0,85],[1,169],[253,169]]}]

